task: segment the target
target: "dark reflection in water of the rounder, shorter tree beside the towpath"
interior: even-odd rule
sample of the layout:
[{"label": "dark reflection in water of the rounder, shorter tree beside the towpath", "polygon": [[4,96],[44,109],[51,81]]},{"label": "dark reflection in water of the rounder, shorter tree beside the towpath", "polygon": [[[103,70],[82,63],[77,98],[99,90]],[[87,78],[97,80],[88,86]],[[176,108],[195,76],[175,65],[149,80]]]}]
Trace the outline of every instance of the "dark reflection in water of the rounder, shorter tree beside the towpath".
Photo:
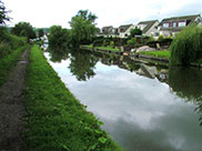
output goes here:
[{"label": "dark reflection in water of the rounder, shorter tree beside the towpath", "polygon": [[50,60],[52,62],[61,62],[61,60],[67,60],[69,58],[69,50],[58,50],[58,49],[48,49],[50,52]]}]

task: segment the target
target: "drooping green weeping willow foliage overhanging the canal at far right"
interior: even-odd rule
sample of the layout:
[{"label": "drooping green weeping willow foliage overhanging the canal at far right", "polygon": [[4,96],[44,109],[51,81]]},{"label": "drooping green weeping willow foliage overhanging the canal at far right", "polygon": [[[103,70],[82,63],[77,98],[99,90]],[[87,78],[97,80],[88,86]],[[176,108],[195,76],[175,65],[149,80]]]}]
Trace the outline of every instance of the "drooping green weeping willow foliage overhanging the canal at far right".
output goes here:
[{"label": "drooping green weeping willow foliage overhanging the canal at far right", "polygon": [[173,40],[171,47],[171,64],[188,66],[202,58],[202,28],[189,26]]}]

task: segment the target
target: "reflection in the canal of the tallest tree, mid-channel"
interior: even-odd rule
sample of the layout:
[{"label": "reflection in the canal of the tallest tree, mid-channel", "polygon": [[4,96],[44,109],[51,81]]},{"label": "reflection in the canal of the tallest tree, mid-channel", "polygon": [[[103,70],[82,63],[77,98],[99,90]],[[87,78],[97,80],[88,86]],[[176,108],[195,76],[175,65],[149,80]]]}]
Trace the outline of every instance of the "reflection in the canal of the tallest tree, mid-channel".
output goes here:
[{"label": "reflection in the canal of the tallest tree, mid-channel", "polygon": [[77,51],[71,53],[70,60],[70,71],[79,81],[87,81],[95,76],[93,69],[98,62],[98,58],[90,52],[85,52],[84,50]]}]

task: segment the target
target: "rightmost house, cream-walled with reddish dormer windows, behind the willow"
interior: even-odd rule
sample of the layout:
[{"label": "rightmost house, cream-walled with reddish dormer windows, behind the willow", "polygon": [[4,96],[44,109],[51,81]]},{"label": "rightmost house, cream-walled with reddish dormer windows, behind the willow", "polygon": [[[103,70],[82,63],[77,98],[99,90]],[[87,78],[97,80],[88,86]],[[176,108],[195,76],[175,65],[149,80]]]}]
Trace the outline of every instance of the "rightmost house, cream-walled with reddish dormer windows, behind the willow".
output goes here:
[{"label": "rightmost house, cream-walled with reddish dormer windows, behind the willow", "polygon": [[192,23],[202,24],[201,16],[194,14],[163,19],[159,24],[160,34],[164,37],[174,37],[175,33]]}]

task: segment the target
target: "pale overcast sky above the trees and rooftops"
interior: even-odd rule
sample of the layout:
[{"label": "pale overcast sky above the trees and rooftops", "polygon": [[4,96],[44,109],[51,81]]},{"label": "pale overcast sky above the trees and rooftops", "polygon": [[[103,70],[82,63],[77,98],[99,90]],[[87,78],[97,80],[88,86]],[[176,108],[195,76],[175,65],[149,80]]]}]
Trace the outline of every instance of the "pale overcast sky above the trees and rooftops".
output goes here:
[{"label": "pale overcast sky above the trees and rooftops", "polygon": [[10,26],[19,21],[44,28],[60,24],[69,28],[79,10],[90,10],[98,17],[98,27],[138,23],[143,20],[175,16],[202,14],[202,0],[2,0],[11,10]]}]

